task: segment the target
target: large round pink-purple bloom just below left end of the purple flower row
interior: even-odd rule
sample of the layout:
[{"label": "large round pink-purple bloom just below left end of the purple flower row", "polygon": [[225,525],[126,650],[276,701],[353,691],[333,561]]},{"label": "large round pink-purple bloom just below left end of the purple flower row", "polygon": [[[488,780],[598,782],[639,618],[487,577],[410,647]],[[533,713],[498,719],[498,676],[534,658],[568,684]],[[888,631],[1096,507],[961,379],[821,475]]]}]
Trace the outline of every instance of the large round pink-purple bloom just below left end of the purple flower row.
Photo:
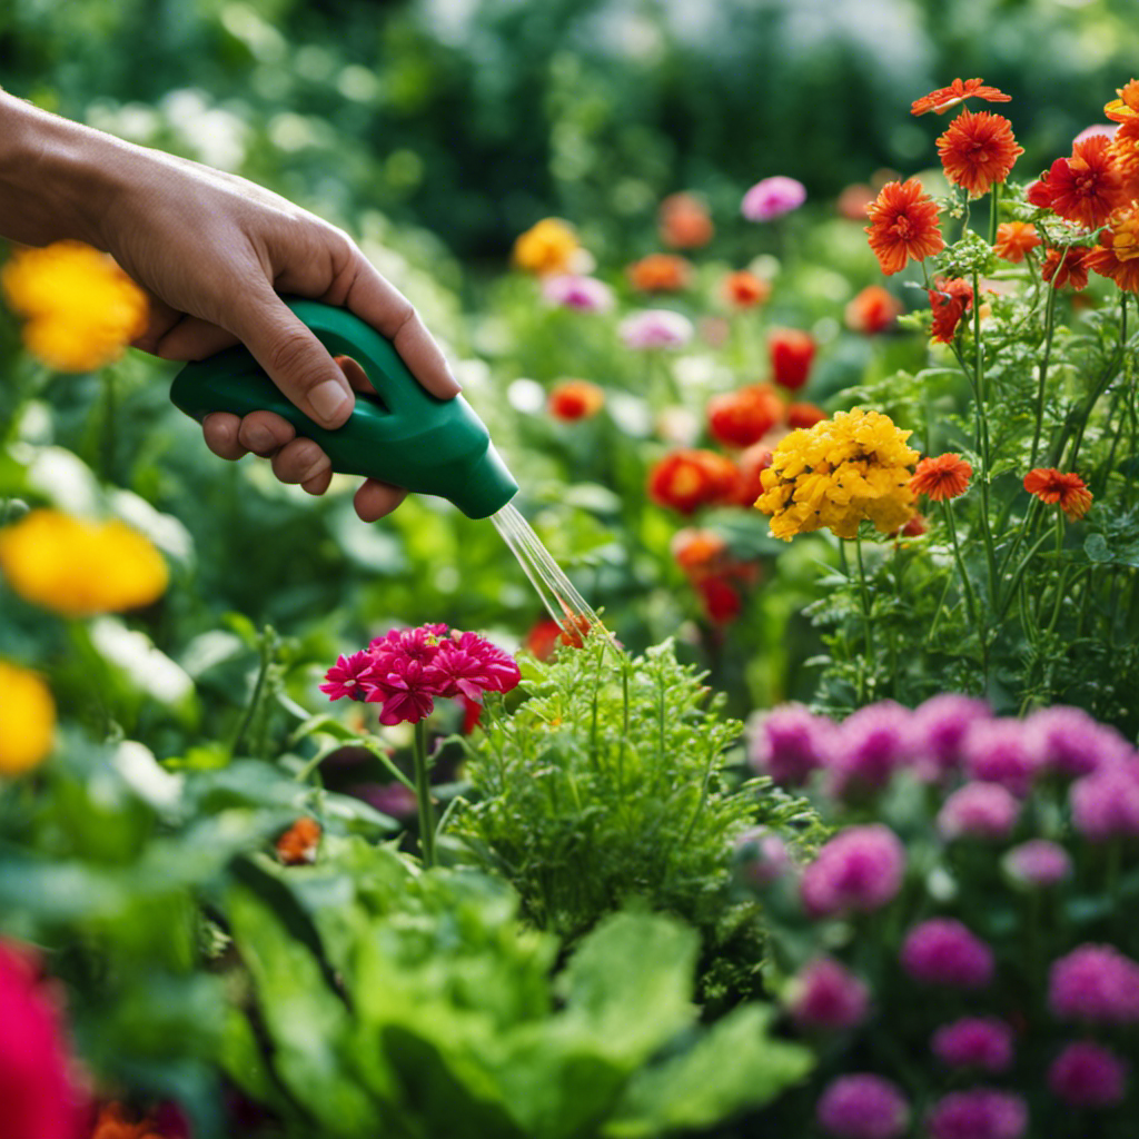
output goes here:
[{"label": "large round pink-purple bloom just below left end of the purple flower row", "polygon": [[803,871],[803,904],[812,917],[872,912],[893,900],[904,870],[906,847],[888,827],[849,827]]}]

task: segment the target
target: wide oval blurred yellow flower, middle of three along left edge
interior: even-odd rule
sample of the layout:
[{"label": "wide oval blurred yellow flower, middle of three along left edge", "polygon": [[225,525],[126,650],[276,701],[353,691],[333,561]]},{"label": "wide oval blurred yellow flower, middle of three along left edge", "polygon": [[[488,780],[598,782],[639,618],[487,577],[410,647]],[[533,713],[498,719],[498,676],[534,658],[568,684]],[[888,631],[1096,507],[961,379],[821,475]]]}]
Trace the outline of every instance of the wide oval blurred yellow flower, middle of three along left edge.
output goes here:
[{"label": "wide oval blurred yellow flower, middle of three along left edge", "polygon": [[33,510],[0,530],[0,572],[24,600],[69,617],[157,600],[170,573],[150,541],[122,522]]}]

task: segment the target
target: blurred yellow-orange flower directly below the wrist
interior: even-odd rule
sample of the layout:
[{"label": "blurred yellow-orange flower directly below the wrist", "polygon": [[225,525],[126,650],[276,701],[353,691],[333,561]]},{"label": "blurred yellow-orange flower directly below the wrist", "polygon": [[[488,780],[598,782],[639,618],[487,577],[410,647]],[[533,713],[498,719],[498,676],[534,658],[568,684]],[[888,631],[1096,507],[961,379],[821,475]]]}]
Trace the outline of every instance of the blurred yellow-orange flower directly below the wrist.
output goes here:
[{"label": "blurred yellow-orange flower directly below the wrist", "polygon": [[146,328],[146,294],[110,257],[80,241],[17,251],[0,270],[0,285],[25,318],[28,352],[57,371],[101,368]]}]

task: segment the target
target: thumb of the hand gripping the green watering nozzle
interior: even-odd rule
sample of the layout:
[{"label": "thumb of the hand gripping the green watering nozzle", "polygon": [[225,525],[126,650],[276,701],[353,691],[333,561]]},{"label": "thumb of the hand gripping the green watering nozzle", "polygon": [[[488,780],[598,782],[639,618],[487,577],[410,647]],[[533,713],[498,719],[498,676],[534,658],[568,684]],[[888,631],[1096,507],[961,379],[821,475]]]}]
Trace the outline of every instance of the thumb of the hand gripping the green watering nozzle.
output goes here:
[{"label": "thumb of the hand gripping the green watering nozzle", "polygon": [[355,396],[344,372],[276,293],[246,294],[227,323],[285,398],[310,419],[321,427],[339,427],[352,413]]}]

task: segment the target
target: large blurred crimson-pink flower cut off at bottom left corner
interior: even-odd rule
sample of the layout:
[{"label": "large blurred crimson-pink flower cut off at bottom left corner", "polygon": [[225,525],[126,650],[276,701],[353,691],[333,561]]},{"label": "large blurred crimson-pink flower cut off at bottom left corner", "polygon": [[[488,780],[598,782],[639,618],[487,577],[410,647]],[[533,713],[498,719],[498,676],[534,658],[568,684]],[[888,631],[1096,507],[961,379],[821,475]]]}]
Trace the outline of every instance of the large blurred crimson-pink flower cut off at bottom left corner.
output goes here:
[{"label": "large blurred crimson-pink flower cut off at bottom left corner", "polygon": [[5,1139],[79,1139],[87,1104],[59,1010],[23,949],[0,942],[0,1105]]}]

